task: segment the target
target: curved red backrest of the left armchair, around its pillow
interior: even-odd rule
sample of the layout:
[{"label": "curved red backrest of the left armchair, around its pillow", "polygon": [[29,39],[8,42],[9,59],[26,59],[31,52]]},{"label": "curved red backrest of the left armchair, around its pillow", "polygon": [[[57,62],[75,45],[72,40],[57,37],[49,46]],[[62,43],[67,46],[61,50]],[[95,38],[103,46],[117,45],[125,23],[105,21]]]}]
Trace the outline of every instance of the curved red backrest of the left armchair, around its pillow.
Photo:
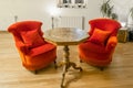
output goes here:
[{"label": "curved red backrest of the left armchair, around its pillow", "polygon": [[11,24],[8,31],[13,34],[14,38],[22,40],[21,32],[37,30],[40,35],[43,35],[41,31],[42,22],[39,21],[21,21]]}]

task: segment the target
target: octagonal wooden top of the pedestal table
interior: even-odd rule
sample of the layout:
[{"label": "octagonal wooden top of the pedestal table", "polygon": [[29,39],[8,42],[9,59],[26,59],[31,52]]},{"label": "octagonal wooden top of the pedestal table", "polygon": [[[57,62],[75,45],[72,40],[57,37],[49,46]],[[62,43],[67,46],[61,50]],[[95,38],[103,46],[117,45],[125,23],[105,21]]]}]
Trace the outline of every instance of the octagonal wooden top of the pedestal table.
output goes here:
[{"label": "octagonal wooden top of the pedestal table", "polygon": [[76,45],[88,37],[88,32],[75,28],[55,28],[44,31],[45,41],[58,45]]}]

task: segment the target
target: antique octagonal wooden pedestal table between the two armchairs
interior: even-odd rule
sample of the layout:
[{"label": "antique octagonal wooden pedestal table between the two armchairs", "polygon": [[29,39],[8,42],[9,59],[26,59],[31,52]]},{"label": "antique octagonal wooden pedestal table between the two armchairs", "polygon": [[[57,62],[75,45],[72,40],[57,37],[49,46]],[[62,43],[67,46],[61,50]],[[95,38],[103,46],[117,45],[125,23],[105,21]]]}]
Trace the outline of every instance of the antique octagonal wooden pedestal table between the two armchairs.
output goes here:
[{"label": "antique octagonal wooden pedestal table between the two armchairs", "polygon": [[70,62],[70,53],[69,45],[78,45],[81,42],[84,42],[89,37],[89,34],[80,29],[75,28],[55,28],[51,30],[47,30],[44,32],[45,41],[54,43],[57,45],[63,45],[64,51],[64,67],[62,74],[61,88],[64,88],[63,81],[65,77],[65,73],[72,66],[74,69],[82,70],[81,67],[78,67],[75,63]]}]

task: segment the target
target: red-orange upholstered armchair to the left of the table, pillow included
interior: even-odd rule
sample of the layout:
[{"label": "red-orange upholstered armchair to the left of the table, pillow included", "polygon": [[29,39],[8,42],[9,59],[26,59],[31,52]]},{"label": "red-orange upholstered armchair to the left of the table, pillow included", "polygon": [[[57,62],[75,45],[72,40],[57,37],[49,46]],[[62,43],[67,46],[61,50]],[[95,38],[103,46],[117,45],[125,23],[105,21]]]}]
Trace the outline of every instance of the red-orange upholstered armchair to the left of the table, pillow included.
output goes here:
[{"label": "red-orange upholstered armchair to the left of the table, pillow included", "polygon": [[12,33],[22,65],[29,70],[39,70],[55,63],[57,46],[43,38],[42,22],[22,21],[8,28]]}]

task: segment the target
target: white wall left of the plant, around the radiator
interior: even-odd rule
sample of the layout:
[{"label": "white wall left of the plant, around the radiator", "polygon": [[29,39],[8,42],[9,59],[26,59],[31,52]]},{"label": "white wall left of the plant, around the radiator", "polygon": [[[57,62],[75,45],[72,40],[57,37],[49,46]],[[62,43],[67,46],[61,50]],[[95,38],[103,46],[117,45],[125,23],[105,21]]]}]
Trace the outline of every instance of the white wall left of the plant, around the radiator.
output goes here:
[{"label": "white wall left of the plant, around the radiator", "polygon": [[86,9],[59,9],[57,0],[0,0],[0,30],[7,28],[18,21],[38,20],[43,22],[43,30],[51,29],[51,13],[57,9],[60,15],[83,15],[85,16],[85,30],[88,30],[88,21],[93,18],[101,16],[99,7],[101,0],[88,0]]}]

